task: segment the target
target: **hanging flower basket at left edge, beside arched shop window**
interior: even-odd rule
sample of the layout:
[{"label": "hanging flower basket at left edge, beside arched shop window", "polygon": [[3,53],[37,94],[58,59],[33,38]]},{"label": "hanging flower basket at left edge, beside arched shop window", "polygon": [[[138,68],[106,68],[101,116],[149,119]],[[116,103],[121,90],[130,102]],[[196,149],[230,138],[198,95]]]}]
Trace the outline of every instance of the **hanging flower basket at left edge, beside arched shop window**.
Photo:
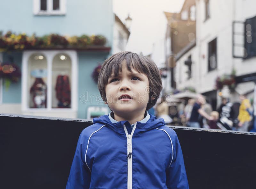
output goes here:
[{"label": "hanging flower basket at left edge, beside arched shop window", "polygon": [[17,83],[20,80],[20,68],[14,63],[0,64],[0,79],[4,80],[6,90],[9,89],[11,83]]}]

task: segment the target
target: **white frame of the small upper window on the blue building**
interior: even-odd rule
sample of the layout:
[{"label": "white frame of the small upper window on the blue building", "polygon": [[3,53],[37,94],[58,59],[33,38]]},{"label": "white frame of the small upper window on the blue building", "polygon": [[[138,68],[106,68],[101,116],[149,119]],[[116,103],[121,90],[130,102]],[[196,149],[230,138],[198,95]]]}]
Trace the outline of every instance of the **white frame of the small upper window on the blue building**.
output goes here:
[{"label": "white frame of the small upper window on the blue building", "polygon": [[60,0],[60,10],[53,10],[53,0],[47,1],[47,10],[40,10],[41,0],[33,0],[34,15],[65,15],[66,14],[66,0]]}]

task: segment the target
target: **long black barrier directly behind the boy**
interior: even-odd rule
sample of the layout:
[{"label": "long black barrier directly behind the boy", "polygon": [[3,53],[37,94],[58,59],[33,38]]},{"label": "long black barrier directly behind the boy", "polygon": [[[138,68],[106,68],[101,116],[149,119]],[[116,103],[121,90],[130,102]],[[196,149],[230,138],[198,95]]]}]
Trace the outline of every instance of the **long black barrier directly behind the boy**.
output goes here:
[{"label": "long black barrier directly behind the boy", "polygon": [[[86,120],[0,115],[0,188],[64,189]],[[172,127],[190,189],[256,188],[256,135]],[[145,173],[146,174],[146,173]]]}]

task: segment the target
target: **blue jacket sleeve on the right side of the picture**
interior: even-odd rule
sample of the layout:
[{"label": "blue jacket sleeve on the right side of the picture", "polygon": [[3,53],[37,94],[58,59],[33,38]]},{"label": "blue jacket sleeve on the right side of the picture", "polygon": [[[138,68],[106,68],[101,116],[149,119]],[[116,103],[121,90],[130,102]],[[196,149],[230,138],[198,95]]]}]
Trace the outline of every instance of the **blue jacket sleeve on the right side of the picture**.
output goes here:
[{"label": "blue jacket sleeve on the right side of the picture", "polygon": [[168,189],[189,189],[180,142],[175,132],[172,136],[173,158],[166,170],[166,185]]}]

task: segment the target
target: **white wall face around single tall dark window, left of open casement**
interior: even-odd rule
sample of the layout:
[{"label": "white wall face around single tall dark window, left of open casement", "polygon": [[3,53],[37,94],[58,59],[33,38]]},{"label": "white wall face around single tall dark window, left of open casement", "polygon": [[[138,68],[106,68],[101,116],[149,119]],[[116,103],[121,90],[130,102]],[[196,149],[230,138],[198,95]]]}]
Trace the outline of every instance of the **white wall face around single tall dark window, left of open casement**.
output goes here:
[{"label": "white wall face around single tall dark window, left of open casement", "polygon": [[[199,90],[214,90],[215,79],[232,70],[232,2],[210,1],[210,18],[205,20],[204,0],[196,4],[196,45],[199,50]],[[208,43],[217,38],[217,69],[208,71]]]}]

